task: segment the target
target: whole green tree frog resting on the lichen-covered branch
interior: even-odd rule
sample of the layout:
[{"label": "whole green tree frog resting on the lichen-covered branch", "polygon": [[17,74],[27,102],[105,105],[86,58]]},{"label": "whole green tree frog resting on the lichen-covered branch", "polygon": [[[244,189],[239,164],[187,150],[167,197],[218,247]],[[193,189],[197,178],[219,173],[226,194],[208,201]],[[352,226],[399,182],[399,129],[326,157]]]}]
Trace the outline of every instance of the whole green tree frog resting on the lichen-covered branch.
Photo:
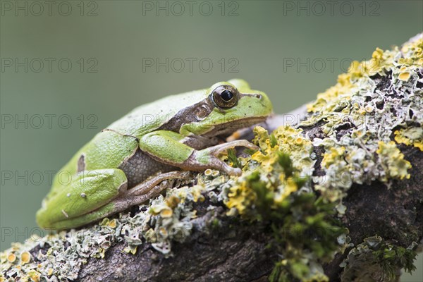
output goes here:
[{"label": "whole green tree frog resting on the lichen-covered branch", "polygon": [[271,114],[269,97],[241,79],[138,106],[97,133],[56,173],[37,224],[61,231],[94,223],[157,197],[166,183],[187,180],[192,172],[240,176],[240,168],[219,156],[235,147],[258,147],[222,137]]}]

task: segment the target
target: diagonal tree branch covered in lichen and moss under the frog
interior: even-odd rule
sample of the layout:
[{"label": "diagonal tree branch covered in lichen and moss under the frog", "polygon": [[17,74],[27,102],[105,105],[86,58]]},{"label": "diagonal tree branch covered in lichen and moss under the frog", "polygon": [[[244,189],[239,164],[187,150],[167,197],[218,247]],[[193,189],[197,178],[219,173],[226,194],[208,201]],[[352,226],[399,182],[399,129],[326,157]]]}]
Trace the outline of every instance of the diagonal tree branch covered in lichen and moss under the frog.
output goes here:
[{"label": "diagonal tree branch covered in lichen and moss under the frog", "polygon": [[354,62],[302,121],[234,135],[260,148],[222,156],[240,178],[192,174],[101,223],[13,245],[0,281],[396,281],[423,238],[422,37]]}]

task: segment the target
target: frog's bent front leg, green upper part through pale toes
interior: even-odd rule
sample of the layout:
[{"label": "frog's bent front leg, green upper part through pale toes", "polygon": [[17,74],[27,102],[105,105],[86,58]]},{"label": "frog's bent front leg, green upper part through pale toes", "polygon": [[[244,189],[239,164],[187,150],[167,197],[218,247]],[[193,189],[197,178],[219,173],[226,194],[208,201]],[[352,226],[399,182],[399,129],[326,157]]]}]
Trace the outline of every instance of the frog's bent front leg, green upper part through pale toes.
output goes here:
[{"label": "frog's bent front leg, green upper part through pale toes", "polygon": [[231,176],[240,176],[241,169],[228,166],[218,158],[219,154],[233,147],[258,148],[247,140],[234,140],[196,150],[185,145],[185,142],[189,143],[189,138],[171,131],[157,130],[140,138],[140,149],[158,161],[187,171],[204,171],[207,168],[213,168],[225,171]]}]

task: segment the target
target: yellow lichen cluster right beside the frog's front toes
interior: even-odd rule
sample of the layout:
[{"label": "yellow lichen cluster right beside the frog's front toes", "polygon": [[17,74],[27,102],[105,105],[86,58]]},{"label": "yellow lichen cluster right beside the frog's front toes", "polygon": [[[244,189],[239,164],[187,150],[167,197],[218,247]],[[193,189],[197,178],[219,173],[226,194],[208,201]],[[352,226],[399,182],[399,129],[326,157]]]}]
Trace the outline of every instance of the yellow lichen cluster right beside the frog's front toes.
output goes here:
[{"label": "yellow lichen cluster right beside the frog's front toes", "polygon": [[[260,184],[261,189],[268,190],[269,195],[274,195],[272,197],[274,197],[275,205],[280,204],[298,190],[298,183],[294,180],[292,171],[284,171],[285,168],[280,163],[281,156],[289,156],[289,162],[292,162],[293,166],[291,169],[302,173],[309,172],[314,165],[310,157],[313,150],[312,142],[302,135],[302,129],[291,126],[281,126],[271,135],[264,128],[257,126],[254,133],[255,138],[252,142],[259,145],[260,150],[252,154],[251,159],[259,164],[255,172],[266,176],[266,180]],[[249,174],[243,176],[230,189],[228,200],[225,202],[226,206],[232,209],[228,214],[232,215],[233,209],[241,215],[255,209],[257,201],[255,189],[258,188],[253,188],[254,185],[250,187],[247,180],[249,176]]]}]

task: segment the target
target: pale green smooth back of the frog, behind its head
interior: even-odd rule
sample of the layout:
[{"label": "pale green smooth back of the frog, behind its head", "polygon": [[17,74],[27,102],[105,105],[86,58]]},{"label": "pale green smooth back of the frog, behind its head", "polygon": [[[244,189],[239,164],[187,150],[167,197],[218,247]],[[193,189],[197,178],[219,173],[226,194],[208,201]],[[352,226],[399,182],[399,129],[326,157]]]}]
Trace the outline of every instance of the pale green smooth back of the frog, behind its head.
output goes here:
[{"label": "pale green smooth back of the frog, behind its head", "polygon": [[156,130],[181,109],[196,104],[206,97],[205,90],[197,90],[138,106],[97,133],[61,168],[61,171],[74,175],[85,170],[119,168],[137,151],[139,147],[137,138]]}]

